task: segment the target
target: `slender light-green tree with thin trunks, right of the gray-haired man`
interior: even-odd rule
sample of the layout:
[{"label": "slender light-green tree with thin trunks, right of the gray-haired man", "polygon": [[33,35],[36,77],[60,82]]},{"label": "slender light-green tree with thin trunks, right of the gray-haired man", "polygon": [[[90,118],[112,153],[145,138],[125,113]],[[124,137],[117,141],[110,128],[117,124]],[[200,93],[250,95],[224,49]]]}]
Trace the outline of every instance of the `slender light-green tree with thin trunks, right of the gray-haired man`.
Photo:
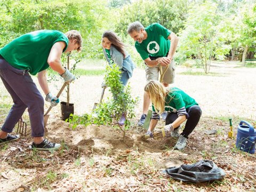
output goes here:
[{"label": "slender light-green tree with thin trunks, right of the gray-haired man", "polygon": [[230,50],[225,45],[219,23],[222,19],[214,3],[203,3],[190,8],[185,29],[181,31],[179,42],[179,57],[193,55],[199,60],[205,73],[209,73],[211,61],[215,57],[223,59]]}]

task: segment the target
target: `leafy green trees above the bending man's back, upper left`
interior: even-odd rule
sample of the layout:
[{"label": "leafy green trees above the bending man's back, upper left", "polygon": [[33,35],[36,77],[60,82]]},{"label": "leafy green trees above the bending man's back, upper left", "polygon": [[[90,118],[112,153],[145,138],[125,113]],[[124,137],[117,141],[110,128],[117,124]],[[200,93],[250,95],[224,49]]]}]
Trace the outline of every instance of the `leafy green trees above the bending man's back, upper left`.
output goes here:
[{"label": "leafy green trees above the bending man's back, upper left", "polygon": [[[100,52],[102,28],[108,17],[107,6],[92,0],[45,0],[45,1],[12,1],[3,0],[0,21],[5,30],[1,32],[2,46],[14,37],[40,29],[55,29],[65,33],[75,29],[81,32],[87,57],[95,57]],[[3,8],[3,9],[2,9]],[[7,22],[9,21],[9,23]],[[100,29],[100,30],[99,30]],[[8,38],[12,31],[12,38]],[[8,41],[9,40],[9,41]],[[93,48],[92,48],[93,47]]]}]

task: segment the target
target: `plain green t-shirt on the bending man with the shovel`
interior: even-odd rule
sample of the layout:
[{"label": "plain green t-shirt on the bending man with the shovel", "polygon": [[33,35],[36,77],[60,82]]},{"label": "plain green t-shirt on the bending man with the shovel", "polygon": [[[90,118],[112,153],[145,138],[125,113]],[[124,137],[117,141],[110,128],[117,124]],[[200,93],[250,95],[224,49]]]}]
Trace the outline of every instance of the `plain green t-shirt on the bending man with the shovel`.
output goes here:
[{"label": "plain green t-shirt on the bending man with the shovel", "polygon": [[31,75],[49,68],[47,59],[54,43],[63,41],[68,47],[68,37],[57,30],[38,30],[14,39],[0,50],[2,57],[17,69],[29,69]]}]

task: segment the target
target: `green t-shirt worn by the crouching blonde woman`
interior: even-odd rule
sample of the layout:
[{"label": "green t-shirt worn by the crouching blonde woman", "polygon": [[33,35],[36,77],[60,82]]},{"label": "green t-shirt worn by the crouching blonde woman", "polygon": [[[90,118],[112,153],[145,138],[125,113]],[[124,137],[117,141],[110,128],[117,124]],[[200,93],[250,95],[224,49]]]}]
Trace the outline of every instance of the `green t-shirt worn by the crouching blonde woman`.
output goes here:
[{"label": "green t-shirt worn by the crouching blonde woman", "polygon": [[[172,113],[177,113],[179,109],[185,107],[186,109],[198,105],[195,99],[191,98],[187,93],[180,90],[177,87],[171,87],[170,92],[166,95],[165,98],[165,110]],[[153,111],[156,111],[152,105]]]}]

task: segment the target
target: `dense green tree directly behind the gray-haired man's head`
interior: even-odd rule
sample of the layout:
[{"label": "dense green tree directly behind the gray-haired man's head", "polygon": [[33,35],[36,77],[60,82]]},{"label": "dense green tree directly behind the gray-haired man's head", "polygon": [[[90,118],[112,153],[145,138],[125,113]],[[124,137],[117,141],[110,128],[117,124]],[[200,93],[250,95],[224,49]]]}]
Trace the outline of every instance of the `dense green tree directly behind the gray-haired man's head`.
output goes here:
[{"label": "dense green tree directly behind the gray-haired man's head", "polygon": [[158,22],[174,33],[183,27],[187,14],[188,1],[171,0],[139,0],[124,6],[120,12],[122,17],[116,23],[116,31],[127,36],[127,26],[134,21],[140,21],[143,26]]}]

